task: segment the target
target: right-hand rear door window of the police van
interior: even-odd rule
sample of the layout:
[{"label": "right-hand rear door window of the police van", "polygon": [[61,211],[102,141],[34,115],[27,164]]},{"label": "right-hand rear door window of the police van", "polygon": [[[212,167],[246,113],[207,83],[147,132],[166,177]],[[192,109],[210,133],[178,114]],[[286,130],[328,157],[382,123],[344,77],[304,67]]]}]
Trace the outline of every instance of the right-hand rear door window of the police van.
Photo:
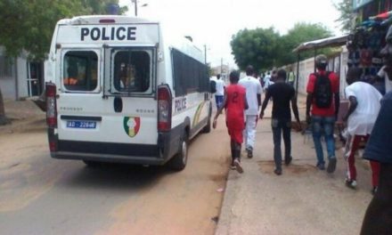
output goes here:
[{"label": "right-hand rear door window of the police van", "polygon": [[118,51],[114,56],[113,84],[123,93],[144,93],[150,87],[151,58],[144,51]]}]

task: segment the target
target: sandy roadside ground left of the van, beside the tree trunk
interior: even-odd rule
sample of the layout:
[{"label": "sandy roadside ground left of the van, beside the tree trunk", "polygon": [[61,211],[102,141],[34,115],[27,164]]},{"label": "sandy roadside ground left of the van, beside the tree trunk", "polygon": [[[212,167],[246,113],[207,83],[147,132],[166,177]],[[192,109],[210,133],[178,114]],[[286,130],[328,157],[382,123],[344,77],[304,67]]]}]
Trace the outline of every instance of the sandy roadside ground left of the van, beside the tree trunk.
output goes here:
[{"label": "sandy roadside ground left of the van, beside the tree trunk", "polygon": [[5,116],[11,124],[0,126],[0,134],[34,132],[45,130],[45,112],[33,101],[4,101]]}]

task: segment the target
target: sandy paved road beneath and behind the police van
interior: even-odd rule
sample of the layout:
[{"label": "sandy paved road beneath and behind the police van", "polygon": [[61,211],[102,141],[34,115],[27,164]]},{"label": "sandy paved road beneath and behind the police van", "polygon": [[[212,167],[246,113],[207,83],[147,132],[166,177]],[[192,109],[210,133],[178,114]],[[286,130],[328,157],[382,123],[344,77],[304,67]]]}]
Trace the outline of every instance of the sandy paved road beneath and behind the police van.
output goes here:
[{"label": "sandy paved road beneath and behind the police van", "polygon": [[[221,136],[225,136],[222,138]],[[200,134],[188,166],[86,167],[50,158],[44,131],[0,134],[2,234],[213,234],[227,175],[224,126]]]}]

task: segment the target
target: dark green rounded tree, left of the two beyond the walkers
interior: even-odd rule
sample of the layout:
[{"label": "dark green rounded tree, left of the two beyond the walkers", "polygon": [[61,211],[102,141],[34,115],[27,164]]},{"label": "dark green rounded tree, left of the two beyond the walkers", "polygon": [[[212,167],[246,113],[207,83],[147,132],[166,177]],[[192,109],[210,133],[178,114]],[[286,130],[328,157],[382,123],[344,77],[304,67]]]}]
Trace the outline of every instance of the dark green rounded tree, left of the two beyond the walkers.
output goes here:
[{"label": "dark green rounded tree, left of the two beyond the walkers", "polygon": [[234,61],[240,69],[245,69],[248,65],[252,65],[257,71],[273,67],[279,37],[274,28],[240,30],[233,35],[230,43]]}]

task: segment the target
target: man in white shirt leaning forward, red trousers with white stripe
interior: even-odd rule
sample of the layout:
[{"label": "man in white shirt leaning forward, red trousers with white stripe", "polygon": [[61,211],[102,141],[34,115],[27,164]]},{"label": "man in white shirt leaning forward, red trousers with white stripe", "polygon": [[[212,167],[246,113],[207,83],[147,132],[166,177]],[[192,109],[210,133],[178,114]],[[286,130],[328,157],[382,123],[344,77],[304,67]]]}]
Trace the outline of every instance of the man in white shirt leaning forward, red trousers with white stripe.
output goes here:
[{"label": "man in white shirt leaning forward, red trousers with white stripe", "polygon": [[[347,179],[346,185],[349,188],[356,187],[355,152],[359,149],[360,142],[367,142],[374,123],[380,111],[380,100],[382,95],[374,86],[359,81],[361,69],[351,68],[347,71],[347,84],[345,89],[346,97],[350,101],[350,108],[343,118],[347,121]],[[380,164],[371,161],[373,192],[379,185]]]}]

